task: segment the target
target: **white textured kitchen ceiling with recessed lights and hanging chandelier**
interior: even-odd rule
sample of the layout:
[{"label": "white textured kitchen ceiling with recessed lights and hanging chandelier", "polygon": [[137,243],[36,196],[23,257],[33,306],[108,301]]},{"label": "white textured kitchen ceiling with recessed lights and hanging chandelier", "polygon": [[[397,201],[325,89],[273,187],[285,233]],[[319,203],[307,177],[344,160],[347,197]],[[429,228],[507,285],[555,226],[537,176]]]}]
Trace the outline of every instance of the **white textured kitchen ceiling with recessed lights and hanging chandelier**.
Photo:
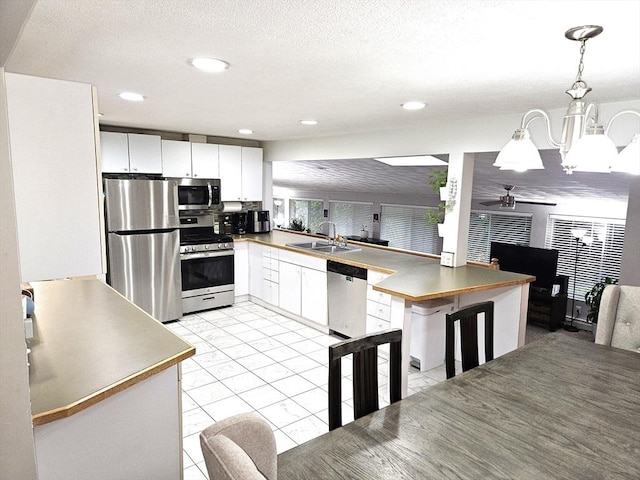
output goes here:
[{"label": "white textured kitchen ceiling with recessed lights and hanging chandelier", "polygon": [[639,18],[637,0],[37,0],[5,67],[96,85],[105,124],[304,138],[565,108],[579,44],[564,32],[590,23],[592,101],[639,98]]}]

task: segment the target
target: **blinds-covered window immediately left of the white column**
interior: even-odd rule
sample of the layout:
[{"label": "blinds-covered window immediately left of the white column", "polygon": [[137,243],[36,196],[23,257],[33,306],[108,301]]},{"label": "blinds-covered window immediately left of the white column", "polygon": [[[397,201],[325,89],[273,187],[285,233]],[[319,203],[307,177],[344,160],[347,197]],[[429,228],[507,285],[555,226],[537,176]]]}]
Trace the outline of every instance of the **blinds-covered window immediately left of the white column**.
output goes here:
[{"label": "blinds-covered window immediately left of the white column", "polygon": [[381,205],[380,237],[390,247],[439,254],[436,225],[427,225],[424,213],[428,207]]}]

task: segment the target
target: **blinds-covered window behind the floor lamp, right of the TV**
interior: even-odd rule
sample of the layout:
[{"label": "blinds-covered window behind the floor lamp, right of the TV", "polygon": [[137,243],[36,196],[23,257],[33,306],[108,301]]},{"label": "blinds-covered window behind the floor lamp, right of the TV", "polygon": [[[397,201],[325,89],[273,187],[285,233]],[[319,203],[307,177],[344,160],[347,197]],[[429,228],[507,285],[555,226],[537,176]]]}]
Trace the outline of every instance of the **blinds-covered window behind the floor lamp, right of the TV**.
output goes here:
[{"label": "blinds-covered window behind the floor lamp, right of the TV", "polygon": [[[572,228],[587,230],[593,243],[582,245],[576,241]],[[557,274],[569,276],[569,298],[574,298],[574,278],[578,300],[583,300],[584,294],[604,277],[620,278],[624,231],[624,220],[549,216],[545,248],[559,251]]]}]

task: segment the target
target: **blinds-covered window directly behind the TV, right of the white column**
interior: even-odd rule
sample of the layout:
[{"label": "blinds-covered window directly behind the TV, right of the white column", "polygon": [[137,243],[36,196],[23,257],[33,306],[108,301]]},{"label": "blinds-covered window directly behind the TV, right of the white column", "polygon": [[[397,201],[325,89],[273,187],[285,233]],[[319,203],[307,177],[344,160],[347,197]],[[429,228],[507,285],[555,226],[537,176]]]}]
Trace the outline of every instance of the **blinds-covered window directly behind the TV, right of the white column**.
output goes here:
[{"label": "blinds-covered window directly behind the TV, right of the white column", "polygon": [[531,215],[471,212],[467,260],[489,263],[491,242],[529,245]]}]

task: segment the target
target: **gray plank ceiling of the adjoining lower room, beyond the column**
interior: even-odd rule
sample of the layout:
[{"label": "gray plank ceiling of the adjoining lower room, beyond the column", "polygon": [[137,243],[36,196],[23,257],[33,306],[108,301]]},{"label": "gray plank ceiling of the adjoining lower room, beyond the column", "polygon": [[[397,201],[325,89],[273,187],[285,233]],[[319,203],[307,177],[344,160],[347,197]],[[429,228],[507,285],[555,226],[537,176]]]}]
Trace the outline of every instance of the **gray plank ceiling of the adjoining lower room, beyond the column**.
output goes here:
[{"label": "gray plank ceiling of the adjoining lower room, beyond the column", "polygon": [[[541,152],[544,170],[526,173],[492,166],[496,153],[478,153],[474,161],[472,198],[498,200],[503,185],[515,185],[517,200],[557,202],[596,198],[626,202],[631,176],[622,173],[566,175],[557,151]],[[431,195],[429,172],[442,167],[391,167],[373,159],[291,161],[273,163],[274,187],[309,192],[367,192]]]}]

